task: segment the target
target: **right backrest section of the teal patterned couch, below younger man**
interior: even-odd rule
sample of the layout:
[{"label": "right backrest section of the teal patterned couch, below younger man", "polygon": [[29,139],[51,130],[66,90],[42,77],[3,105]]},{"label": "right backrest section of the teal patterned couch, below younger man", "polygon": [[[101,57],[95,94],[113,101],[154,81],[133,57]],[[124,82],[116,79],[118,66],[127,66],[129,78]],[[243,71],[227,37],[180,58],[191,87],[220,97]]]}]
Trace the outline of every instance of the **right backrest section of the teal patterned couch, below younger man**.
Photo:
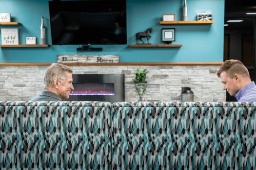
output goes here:
[{"label": "right backrest section of the teal patterned couch, below younger man", "polygon": [[256,103],[112,104],[114,169],[253,169]]}]

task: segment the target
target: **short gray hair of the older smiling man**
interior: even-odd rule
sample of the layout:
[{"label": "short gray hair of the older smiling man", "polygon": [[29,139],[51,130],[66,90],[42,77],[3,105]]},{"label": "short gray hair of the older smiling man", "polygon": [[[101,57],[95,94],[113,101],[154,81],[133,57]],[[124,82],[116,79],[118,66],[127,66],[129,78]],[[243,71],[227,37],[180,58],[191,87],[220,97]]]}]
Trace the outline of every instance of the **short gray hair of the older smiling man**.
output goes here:
[{"label": "short gray hair of the older smiling man", "polygon": [[66,79],[65,71],[72,73],[72,69],[68,66],[59,63],[53,63],[49,68],[46,69],[44,75],[44,89],[49,86],[53,86],[54,79],[64,81]]}]

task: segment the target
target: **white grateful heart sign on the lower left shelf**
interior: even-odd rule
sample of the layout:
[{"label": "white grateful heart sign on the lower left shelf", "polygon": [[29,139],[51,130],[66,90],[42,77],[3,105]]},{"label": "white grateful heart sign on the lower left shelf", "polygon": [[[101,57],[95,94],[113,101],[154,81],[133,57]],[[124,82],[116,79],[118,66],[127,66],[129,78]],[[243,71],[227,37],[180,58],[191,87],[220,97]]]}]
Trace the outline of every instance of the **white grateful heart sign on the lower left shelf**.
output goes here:
[{"label": "white grateful heart sign on the lower left shelf", "polygon": [[1,28],[2,45],[19,45],[19,28]]}]

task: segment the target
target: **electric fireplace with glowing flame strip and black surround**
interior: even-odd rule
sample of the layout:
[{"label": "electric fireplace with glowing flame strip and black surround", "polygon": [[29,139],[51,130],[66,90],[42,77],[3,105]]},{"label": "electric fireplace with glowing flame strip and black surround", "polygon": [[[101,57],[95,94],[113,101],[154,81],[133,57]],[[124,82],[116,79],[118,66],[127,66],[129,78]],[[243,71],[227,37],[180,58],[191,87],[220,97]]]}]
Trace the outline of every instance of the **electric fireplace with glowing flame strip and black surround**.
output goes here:
[{"label": "electric fireplace with glowing flame strip and black surround", "polygon": [[124,101],[124,74],[73,74],[67,101]]}]

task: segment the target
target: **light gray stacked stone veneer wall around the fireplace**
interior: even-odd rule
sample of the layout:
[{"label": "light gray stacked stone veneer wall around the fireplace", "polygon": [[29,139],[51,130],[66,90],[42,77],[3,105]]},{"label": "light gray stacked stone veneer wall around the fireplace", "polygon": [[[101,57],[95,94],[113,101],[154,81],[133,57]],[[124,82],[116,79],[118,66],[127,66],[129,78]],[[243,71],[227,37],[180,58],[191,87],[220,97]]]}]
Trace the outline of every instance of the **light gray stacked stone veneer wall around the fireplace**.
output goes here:
[{"label": "light gray stacked stone veneer wall around the fireplace", "polygon": [[[44,88],[47,67],[0,67],[0,101],[27,101]],[[226,93],[217,77],[219,66],[71,66],[74,74],[125,74],[125,101],[138,101],[135,68],[147,68],[145,101],[180,101],[181,87],[191,87],[196,102],[223,102]]]}]

